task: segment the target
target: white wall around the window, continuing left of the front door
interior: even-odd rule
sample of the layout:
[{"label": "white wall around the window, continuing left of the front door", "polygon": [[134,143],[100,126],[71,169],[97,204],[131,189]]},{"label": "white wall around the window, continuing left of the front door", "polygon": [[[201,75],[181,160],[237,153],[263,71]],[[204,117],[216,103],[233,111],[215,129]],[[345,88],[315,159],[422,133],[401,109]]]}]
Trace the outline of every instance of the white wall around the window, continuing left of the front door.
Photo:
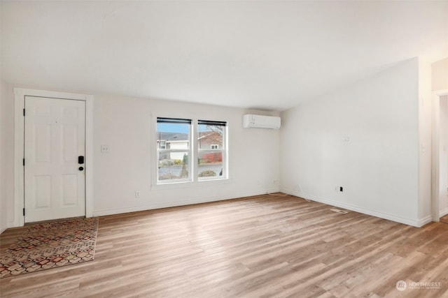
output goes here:
[{"label": "white wall around the window, continuing left of the front door", "polygon": [[[2,133],[6,142],[2,150],[1,214],[8,214],[7,225],[14,225],[14,96],[13,87],[6,84],[6,99],[2,100]],[[279,131],[242,128],[243,114],[259,112],[278,116],[278,112],[241,110],[179,103],[166,100],[125,98],[94,95],[93,112],[93,213],[94,216],[118,214],[160,207],[179,206],[197,202],[211,202],[279,191],[273,180],[279,179]],[[3,98],[3,96],[2,96]],[[5,103],[3,105],[3,103]],[[8,114],[6,119],[3,116]],[[228,181],[202,181],[152,189],[153,174],[153,118],[183,117],[228,121],[229,173]],[[6,123],[3,126],[3,123]],[[2,134],[3,135],[3,134]],[[110,151],[101,153],[101,145]],[[153,148],[154,147],[154,148]],[[3,163],[3,161],[7,161]],[[3,186],[5,186],[3,188]],[[141,198],[134,198],[136,190]],[[3,206],[6,204],[6,208]],[[2,216],[3,218],[3,216]],[[3,228],[3,223],[2,223]]]}]

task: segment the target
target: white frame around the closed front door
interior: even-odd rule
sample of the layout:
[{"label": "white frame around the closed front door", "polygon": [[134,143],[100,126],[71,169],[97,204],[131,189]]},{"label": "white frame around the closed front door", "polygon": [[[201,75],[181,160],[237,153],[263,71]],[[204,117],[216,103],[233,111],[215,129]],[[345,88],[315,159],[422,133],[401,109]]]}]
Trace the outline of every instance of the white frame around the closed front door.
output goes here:
[{"label": "white frame around the closed front door", "polygon": [[25,225],[25,96],[85,101],[85,217],[93,216],[93,96],[59,91],[14,88],[14,226]]}]

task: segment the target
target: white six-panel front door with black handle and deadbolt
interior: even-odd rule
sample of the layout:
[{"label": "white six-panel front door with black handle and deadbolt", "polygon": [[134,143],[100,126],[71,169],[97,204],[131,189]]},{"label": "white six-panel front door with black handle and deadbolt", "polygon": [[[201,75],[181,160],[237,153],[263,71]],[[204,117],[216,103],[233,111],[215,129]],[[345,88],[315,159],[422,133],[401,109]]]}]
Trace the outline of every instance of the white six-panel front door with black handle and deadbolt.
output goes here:
[{"label": "white six-panel front door with black handle and deadbolt", "polygon": [[85,101],[25,96],[25,222],[85,216]]}]

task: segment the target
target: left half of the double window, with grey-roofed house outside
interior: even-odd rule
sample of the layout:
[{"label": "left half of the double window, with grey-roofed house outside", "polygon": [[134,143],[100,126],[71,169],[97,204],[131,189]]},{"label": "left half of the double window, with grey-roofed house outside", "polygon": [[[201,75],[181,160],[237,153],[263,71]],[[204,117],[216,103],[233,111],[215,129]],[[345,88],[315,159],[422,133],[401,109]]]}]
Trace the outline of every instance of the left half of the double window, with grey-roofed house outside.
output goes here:
[{"label": "left half of the double window, with grey-roofed house outside", "polygon": [[191,120],[157,119],[158,184],[191,181]]}]

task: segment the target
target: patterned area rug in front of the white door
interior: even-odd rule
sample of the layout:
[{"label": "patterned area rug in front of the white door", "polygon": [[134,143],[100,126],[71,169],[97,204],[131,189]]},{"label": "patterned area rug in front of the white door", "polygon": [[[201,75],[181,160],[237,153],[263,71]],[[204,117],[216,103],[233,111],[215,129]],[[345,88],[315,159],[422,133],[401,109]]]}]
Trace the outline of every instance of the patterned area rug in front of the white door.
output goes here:
[{"label": "patterned area rug in front of the white door", "polygon": [[0,256],[0,276],[8,277],[93,260],[98,218],[30,225]]}]

